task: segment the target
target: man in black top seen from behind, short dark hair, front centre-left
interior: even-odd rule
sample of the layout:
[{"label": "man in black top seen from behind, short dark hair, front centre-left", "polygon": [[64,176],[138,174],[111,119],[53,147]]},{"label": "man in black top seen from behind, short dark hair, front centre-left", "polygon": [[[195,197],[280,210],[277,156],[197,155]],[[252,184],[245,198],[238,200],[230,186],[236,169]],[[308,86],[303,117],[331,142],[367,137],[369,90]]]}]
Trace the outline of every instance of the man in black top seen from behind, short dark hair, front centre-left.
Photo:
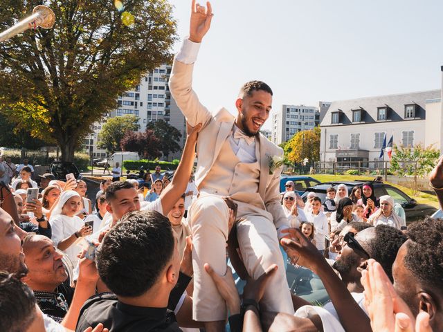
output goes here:
[{"label": "man in black top seen from behind, short dark hair, front centre-left", "polygon": [[181,331],[172,310],[190,282],[192,262],[181,264],[168,218],[130,212],[106,234],[96,262],[114,294],[91,297],[76,331],[100,322],[109,331]]}]

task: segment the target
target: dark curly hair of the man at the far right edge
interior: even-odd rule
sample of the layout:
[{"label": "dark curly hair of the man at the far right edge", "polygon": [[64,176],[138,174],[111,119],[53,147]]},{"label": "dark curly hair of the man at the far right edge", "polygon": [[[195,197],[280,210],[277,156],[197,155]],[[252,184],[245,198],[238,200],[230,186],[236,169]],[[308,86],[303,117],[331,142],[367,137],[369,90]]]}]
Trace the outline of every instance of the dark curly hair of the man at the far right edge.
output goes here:
[{"label": "dark curly hair of the man at the far right edge", "polygon": [[405,266],[426,286],[442,290],[443,219],[426,218],[408,226]]}]

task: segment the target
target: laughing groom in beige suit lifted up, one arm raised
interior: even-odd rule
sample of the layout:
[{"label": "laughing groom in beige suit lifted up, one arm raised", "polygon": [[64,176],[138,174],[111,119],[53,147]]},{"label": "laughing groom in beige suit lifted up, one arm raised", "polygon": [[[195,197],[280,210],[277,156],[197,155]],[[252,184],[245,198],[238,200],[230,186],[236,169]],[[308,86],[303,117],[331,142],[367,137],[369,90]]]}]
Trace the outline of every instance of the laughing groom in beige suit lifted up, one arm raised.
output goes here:
[{"label": "laughing groom in beige suit lifted up, one arm raised", "polygon": [[248,274],[257,279],[269,266],[278,265],[260,307],[293,314],[276,230],[288,225],[280,205],[281,167],[271,165],[282,149],[259,133],[269,118],[272,90],[260,81],[244,84],[235,101],[236,117],[224,108],[210,112],[199,102],[192,90],[192,70],[212,17],[209,2],[206,9],[192,0],[190,36],[174,59],[170,77],[170,91],[186,120],[191,126],[203,124],[195,172],[200,196],[189,217],[195,278],[193,319],[206,322],[207,331],[222,329],[226,319],[224,299],[204,270],[208,263],[219,275],[226,273],[229,211],[224,196],[238,205],[237,238]]}]

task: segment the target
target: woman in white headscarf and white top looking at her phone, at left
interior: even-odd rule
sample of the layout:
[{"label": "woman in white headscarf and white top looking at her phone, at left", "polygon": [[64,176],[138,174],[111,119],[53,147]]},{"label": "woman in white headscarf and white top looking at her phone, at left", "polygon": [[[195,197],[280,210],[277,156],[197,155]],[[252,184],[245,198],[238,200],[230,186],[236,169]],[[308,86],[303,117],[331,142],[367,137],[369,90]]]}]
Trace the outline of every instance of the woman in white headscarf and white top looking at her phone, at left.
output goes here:
[{"label": "woman in white headscarf and white top looking at her phone, at left", "polygon": [[78,262],[78,253],[82,249],[78,243],[92,233],[90,226],[85,226],[77,214],[82,210],[82,198],[78,192],[62,192],[55,206],[49,223],[51,224],[54,246],[63,250],[74,266]]}]

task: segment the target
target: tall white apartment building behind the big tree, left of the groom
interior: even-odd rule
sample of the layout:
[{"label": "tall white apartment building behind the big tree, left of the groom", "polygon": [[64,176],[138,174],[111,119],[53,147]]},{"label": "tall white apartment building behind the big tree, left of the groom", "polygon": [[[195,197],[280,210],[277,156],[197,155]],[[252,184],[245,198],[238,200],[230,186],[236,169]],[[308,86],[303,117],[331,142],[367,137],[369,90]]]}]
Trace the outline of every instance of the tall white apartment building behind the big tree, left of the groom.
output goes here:
[{"label": "tall white apartment building behind the big tree, left of the groom", "polygon": [[[109,112],[109,118],[127,114],[137,116],[139,131],[145,131],[149,122],[165,120],[179,129],[181,139],[178,143],[180,147],[183,147],[186,140],[186,120],[174,98],[171,97],[168,87],[171,69],[172,66],[163,64],[155,68],[152,73],[148,73],[133,90],[126,91],[118,97],[117,109]],[[85,143],[88,144],[84,144],[84,148],[92,154],[93,158],[106,156],[106,151],[97,147],[100,141],[100,130],[106,120],[107,117],[102,122],[94,124],[93,133],[85,140]],[[178,151],[175,154],[170,154],[168,159],[180,157],[181,151]]]}]

